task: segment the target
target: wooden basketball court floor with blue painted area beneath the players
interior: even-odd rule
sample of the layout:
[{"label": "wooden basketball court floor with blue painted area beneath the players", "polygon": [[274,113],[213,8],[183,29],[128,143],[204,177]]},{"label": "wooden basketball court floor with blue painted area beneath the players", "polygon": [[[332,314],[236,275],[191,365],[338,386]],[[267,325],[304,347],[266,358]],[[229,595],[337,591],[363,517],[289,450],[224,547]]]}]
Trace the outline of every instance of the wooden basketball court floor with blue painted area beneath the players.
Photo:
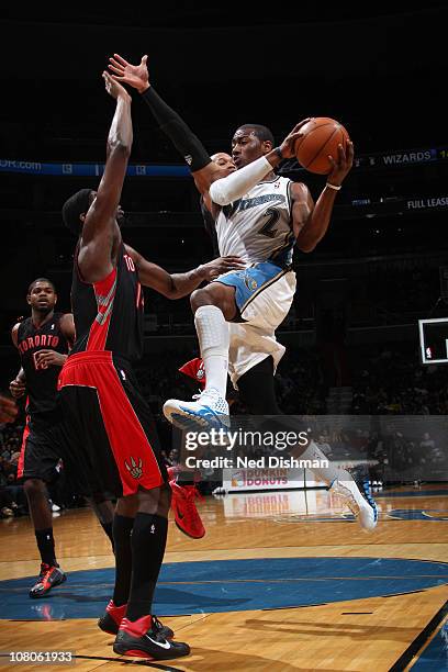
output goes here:
[{"label": "wooden basketball court floor with blue painted area beneath the players", "polygon": [[[119,658],[97,628],[112,593],[109,540],[88,508],[55,517],[68,580],[47,598],[30,519],[0,520],[0,668],[113,671],[447,670],[448,489],[377,495],[376,533],[326,491],[206,497],[203,539],[171,520],[156,613],[192,648],[163,662]],[[11,663],[11,651],[70,651],[74,665]]]}]

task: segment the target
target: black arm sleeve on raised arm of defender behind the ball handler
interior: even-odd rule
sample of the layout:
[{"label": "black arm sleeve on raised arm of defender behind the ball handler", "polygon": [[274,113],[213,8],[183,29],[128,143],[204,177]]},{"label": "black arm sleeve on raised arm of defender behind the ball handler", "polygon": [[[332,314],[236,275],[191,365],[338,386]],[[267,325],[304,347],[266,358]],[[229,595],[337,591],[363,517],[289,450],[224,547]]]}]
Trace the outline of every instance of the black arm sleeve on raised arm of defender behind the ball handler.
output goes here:
[{"label": "black arm sleeve on raised arm of defender behind the ball handler", "polygon": [[142,92],[142,98],[152,111],[160,130],[164,131],[176,149],[183,156],[191,172],[201,170],[212,161],[201,141],[179,114],[167,105],[153,86],[149,86]]}]

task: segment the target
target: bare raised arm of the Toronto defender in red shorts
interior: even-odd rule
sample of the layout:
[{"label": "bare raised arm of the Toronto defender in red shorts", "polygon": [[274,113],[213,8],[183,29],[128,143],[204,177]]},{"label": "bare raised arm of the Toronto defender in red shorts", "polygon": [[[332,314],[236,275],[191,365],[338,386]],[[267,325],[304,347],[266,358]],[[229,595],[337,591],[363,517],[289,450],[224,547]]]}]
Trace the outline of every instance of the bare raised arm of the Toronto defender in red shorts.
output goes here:
[{"label": "bare raised arm of the Toronto defender in red shorts", "polygon": [[86,215],[79,244],[78,266],[87,282],[102,280],[114,267],[112,253],[117,238],[121,240],[116,211],[133,139],[131,97],[109,72],[103,72],[103,79],[116,108],[108,136],[104,173]]}]

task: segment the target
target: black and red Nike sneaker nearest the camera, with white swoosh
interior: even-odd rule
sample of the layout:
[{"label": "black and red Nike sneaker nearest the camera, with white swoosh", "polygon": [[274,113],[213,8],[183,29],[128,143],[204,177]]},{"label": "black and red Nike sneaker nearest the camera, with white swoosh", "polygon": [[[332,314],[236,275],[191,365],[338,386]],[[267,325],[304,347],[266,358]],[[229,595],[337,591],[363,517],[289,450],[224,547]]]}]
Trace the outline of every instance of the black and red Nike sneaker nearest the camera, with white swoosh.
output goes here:
[{"label": "black and red Nike sneaker nearest the camera, with white swoosh", "polygon": [[123,618],[113,650],[120,656],[135,656],[150,660],[169,660],[190,653],[187,643],[161,637],[154,628],[154,618],[150,615],[142,616],[134,621]]}]

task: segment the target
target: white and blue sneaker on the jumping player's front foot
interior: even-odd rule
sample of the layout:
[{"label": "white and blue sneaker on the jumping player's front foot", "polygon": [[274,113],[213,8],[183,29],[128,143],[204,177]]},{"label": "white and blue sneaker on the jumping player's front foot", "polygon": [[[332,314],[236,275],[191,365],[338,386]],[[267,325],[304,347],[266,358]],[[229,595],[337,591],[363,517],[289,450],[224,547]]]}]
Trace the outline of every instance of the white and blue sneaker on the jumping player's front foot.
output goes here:
[{"label": "white and blue sneaker on the jumping player's front foot", "polygon": [[229,429],[228,404],[214,388],[198,394],[193,402],[169,399],[164,404],[164,415],[176,427],[189,432]]}]

